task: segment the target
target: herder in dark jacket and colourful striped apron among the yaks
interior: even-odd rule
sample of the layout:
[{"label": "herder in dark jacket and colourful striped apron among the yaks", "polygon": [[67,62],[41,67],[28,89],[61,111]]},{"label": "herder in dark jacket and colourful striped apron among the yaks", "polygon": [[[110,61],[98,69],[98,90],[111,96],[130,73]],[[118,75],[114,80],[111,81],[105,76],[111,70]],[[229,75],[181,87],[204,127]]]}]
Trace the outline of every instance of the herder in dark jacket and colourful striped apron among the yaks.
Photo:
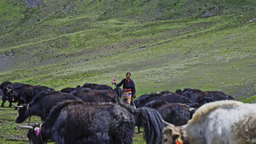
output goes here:
[{"label": "herder in dark jacket and colourful striped apron among the yaks", "polygon": [[114,86],[116,87],[120,87],[123,85],[123,93],[122,93],[122,97],[121,97],[121,102],[123,102],[124,104],[127,105],[131,105],[132,104],[132,98],[135,98],[135,85],[134,82],[131,79],[131,73],[127,72],[127,74],[125,75],[126,78],[122,79],[122,81],[118,84],[115,83],[115,81],[111,81],[111,83],[113,83]]}]

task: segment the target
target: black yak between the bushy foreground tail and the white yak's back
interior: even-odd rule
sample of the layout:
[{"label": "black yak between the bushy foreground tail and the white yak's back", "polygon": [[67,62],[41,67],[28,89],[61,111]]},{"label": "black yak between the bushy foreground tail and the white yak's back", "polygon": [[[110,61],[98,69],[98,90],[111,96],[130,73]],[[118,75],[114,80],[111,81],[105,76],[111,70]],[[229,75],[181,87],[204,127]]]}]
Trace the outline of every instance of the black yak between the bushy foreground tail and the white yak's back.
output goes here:
[{"label": "black yak between the bushy foreground tail and the white yak's back", "polygon": [[163,100],[154,100],[148,102],[145,106],[156,109],[161,114],[164,121],[176,126],[187,124],[193,113],[195,113],[194,109],[186,104],[167,103]]}]

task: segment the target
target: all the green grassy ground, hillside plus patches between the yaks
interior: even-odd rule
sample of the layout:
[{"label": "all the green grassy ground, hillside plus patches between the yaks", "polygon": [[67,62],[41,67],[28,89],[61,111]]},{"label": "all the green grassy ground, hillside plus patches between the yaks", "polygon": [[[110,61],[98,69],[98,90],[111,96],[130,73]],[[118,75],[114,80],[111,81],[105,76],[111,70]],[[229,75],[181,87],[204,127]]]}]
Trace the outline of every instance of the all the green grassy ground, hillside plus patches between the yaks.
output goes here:
[{"label": "all the green grassy ground, hillside plus patches between the yaks", "polygon": [[[119,82],[131,72],[137,96],[198,88],[255,103],[255,8],[253,0],[3,0],[0,83],[112,86],[113,75]],[[0,110],[0,143],[26,143],[17,111]]]}]

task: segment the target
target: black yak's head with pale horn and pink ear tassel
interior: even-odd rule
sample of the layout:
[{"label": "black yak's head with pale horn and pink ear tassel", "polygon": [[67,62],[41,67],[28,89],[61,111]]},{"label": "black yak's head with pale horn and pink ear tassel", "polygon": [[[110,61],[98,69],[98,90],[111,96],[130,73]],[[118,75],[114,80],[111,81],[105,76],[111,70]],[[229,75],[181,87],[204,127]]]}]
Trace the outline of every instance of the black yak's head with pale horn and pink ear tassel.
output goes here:
[{"label": "black yak's head with pale horn and pink ear tassel", "polygon": [[28,136],[28,143],[29,144],[42,144],[42,140],[40,138],[40,125],[42,124],[34,124],[32,126],[20,126],[21,128],[29,129],[27,136]]}]

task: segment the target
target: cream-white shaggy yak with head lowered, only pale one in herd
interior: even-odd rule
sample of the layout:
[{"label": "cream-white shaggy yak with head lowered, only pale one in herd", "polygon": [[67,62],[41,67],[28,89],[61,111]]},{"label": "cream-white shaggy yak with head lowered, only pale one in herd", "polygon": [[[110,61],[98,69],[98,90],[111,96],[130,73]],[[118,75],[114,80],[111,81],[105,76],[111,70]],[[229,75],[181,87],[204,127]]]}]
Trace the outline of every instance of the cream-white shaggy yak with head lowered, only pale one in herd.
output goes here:
[{"label": "cream-white shaggy yak with head lowered, only pale one in herd", "polygon": [[234,100],[211,102],[196,110],[188,124],[168,125],[163,131],[163,144],[180,138],[184,144],[255,144],[256,104]]}]

